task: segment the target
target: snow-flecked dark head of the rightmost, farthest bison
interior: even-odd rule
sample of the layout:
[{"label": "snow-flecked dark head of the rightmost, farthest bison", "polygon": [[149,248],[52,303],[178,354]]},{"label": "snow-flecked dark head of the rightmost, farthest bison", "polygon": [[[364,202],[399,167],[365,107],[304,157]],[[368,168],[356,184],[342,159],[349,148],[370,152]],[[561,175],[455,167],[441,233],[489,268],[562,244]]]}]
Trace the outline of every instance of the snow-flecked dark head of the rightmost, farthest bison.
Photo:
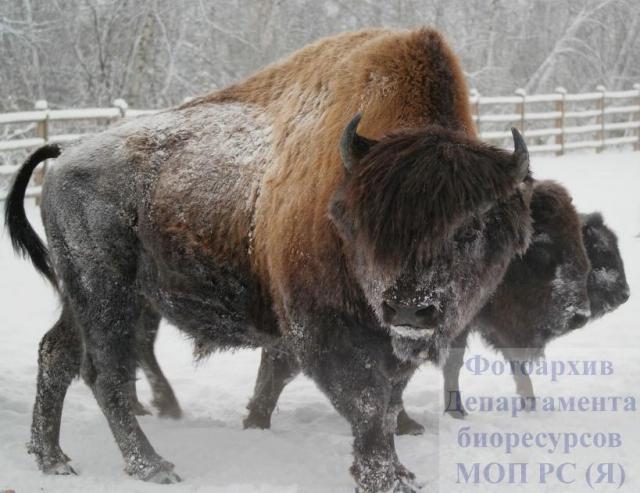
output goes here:
[{"label": "snow-flecked dark head of the rightmost, farthest bison", "polygon": [[629,285],[618,249],[618,238],[598,213],[581,216],[582,235],[591,261],[588,280],[591,316],[598,318],[629,299]]}]

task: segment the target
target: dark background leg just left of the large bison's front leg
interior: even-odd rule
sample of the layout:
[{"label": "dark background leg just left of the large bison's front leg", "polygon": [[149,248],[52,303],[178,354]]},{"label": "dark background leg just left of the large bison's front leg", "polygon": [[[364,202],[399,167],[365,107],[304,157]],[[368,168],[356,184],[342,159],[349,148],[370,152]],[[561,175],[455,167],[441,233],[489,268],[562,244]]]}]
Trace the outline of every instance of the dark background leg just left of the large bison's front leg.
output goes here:
[{"label": "dark background leg just left of the large bison's front leg", "polygon": [[300,373],[296,357],[284,347],[262,350],[260,369],[256,378],[253,397],[247,405],[249,415],[245,428],[267,429],[271,427],[271,415],[284,387]]}]

